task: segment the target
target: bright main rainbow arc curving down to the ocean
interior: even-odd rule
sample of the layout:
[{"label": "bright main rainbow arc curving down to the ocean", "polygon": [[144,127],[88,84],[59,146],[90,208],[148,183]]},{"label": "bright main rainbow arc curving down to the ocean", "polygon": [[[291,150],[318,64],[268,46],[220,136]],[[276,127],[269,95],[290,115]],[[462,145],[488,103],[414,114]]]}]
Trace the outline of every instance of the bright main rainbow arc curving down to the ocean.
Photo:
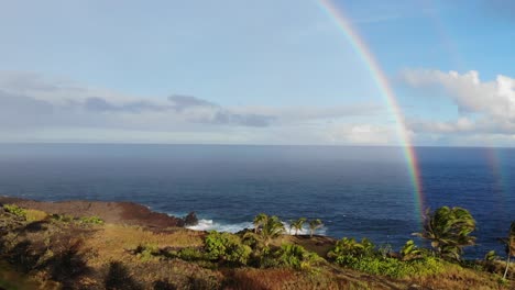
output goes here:
[{"label": "bright main rainbow arc curving down to the ocean", "polygon": [[407,169],[409,171],[409,178],[414,189],[415,203],[417,208],[416,211],[421,219],[424,214],[424,196],[421,190],[420,171],[418,168],[415,150],[409,140],[408,131],[406,130],[403,113],[401,111],[401,108],[398,107],[395,93],[392,90],[386,76],[384,75],[380,65],[375,60],[373,54],[370,52],[369,47],[360,37],[358,32],[352,29],[350,22],[344,16],[342,10],[337,8],[331,0],[318,0],[317,3],[320,5],[322,11],[325,11],[329,15],[329,18],[335,22],[335,24],[341,30],[341,32],[346,36],[347,41],[351,44],[357,55],[365,64],[370,75],[372,76],[373,80],[377,86],[377,89],[381,92],[381,96],[386,102],[388,112],[395,119],[395,130],[398,136],[398,141],[403,147],[404,156],[407,163]]}]

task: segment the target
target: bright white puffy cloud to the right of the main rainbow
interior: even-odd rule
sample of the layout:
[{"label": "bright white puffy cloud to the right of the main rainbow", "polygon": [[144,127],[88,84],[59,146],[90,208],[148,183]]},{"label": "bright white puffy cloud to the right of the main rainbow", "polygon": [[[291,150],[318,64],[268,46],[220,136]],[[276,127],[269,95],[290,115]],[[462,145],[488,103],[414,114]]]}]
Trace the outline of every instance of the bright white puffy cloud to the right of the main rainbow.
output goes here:
[{"label": "bright white puffy cloud to the right of the main rainbow", "polygon": [[[515,79],[498,75],[482,81],[475,70],[465,74],[440,70],[404,70],[401,79],[408,86],[425,90],[443,90],[457,105],[459,118],[448,121],[409,120],[412,130],[421,134],[454,134],[458,143],[481,140],[513,141],[515,135]],[[467,135],[467,137],[465,137]],[[471,136],[475,136],[472,138]],[[451,136],[447,136],[449,138]],[[472,144],[465,144],[472,145]]]}]

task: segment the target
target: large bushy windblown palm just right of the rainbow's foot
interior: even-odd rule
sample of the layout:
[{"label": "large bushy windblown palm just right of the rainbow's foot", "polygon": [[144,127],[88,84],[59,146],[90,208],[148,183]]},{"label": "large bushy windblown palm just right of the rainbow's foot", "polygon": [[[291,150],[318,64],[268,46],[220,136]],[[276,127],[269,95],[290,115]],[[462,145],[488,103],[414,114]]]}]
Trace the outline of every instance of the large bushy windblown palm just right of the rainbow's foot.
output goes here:
[{"label": "large bushy windblown palm just right of the rainbow's foot", "polygon": [[469,236],[474,230],[475,220],[468,210],[441,207],[426,211],[423,232],[415,235],[430,241],[438,256],[459,259],[463,247],[474,245],[475,237]]}]

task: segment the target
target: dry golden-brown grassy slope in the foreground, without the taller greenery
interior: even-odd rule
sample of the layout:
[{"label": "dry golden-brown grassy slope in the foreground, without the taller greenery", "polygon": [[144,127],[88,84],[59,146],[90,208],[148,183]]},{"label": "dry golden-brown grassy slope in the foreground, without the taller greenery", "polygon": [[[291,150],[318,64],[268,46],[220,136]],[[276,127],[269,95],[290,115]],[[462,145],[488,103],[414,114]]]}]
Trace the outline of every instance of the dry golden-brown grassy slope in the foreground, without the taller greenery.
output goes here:
[{"label": "dry golden-brown grassy slope in the foreground, without the taller greenery", "polygon": [[[300,267],[291,263],[293,256],[285,261],[285,252],[260,256],[254,249],[245,263],[235,263],[213,258],[206,246],[209,234],[179,223],[138,225],[134,219],[105,222],[97,215],[9,207],[0,209],[0,287],[6,289],[513,289],[497,275],[446,261],[438,261],[438,274],[418,277],[343,268],[328,261],[336,243],[331,237],[280,235],[272,241],[271,253],[299,245],[317,254]],[[230,236],[243,239],[245,234],[252,232]]]}]

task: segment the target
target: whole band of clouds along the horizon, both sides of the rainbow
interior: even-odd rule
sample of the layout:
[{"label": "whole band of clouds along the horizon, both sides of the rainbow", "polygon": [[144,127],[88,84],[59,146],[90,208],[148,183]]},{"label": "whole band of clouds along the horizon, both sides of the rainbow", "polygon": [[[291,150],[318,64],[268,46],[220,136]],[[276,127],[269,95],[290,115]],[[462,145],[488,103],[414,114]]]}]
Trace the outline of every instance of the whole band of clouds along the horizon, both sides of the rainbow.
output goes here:
[{"label": "whole band of clouds along the horizon, both sides of the rainbow", "polygon": [[[427,69],[405,69],[397,79],[417,98],[441,94],[456,105],[448,120],[403,116],[415,145],[515,142],[515,79]],[[380,102],[227,107],[189,94],[130,96],[0,71],[0,142],[399,145],[392,120]]]}]

